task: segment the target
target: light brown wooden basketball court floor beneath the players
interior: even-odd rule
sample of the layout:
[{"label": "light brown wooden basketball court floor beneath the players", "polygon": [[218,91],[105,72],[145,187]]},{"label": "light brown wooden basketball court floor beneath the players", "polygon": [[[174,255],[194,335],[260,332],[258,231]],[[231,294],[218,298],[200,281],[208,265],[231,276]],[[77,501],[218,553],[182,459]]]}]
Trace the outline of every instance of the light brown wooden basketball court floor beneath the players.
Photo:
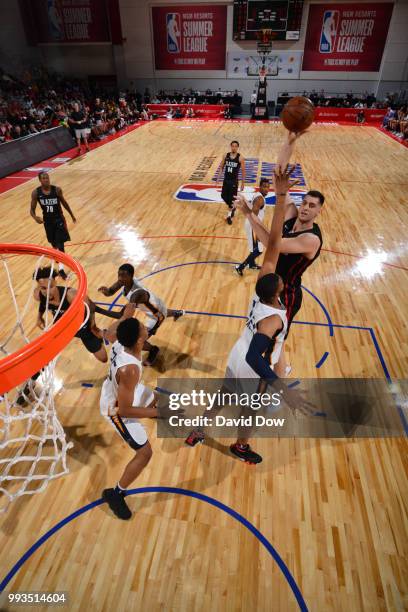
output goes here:
[{"label": "light brown wooden basketball court floor beneath the players", "polygon": [[[130,261],[138,276],[170,267],[146,284],[173,308],[245,315],[253,274],[239,279],[228,263],[194,265],[241,261],[242,220],[229,227],[223,205],[173,195],[203,157],[220,159],[232,139],[245,157],[273,162],[283,137],[273,124],[157,121],[53,172],[78,219],[67,250],[84,266],[90,296],[103,300],[97,287]],[[408,151],[375,128],[316,126],[299,143],[296,161],[326,203],[324,251],[303,279],[311,292],[298,317],[305,323],[294,325],[288,340],[293,376],[384,378],[388,371],[407,378]],[[36,185],[0,197],[2,241],[46,244],[29,217]],[[191,265],[172,267],[183,263]],[[23,264],[16,258],[13,266],[23,287]],[[307,324],[327,323],[312,293],[333,323],[346,327],[330,336],[327,325]],[[10,311],[2,310],[4,323]],[[222,376],[241,328],[238,318],[198,314],[165,322],[155,337],[162,357],[158,368],[145,370],[145,382]],[[114,484],[131,456],[99,416],[106,367],[74,340],[57,373],[64,383],[58,413],[74,442],[71,471],[0,515],[0,579],[41,534]],[[135,486],[190,489],[241,513],[276,548],[310,610],[408,609],[405,438],[259,439],[254,447],[264,461],[253,468],[228,455],[228,440],[190,449],[157,439],[154,422],[147,428],[154,455]],[[130,505],[135,514],[126,524],[105,506],[67,524],[7,590],[68,591],[69,609],[81,611],[298,609],[272,556],[221,510],[155,493],[134,496]]]}]

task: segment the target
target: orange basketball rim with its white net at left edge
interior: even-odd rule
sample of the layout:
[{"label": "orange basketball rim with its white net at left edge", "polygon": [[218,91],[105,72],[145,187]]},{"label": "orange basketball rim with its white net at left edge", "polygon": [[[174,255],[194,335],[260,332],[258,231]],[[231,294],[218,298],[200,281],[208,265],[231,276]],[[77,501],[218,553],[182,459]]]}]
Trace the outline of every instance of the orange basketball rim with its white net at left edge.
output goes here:
[{"label": "orange basketball rim with its white net at left edge", "polygon": [[[15,290],[11,268],[15,256],[23,255],[35,256],[36,260],[33,265],[24,263],[23,270],[19,268],[19,284]],[[44,262],[44,258],[51,261]],[[11,329],[6,330],[5,337],[0,336],[0,351],[5,355],[0,360],[2,512],[17,497],[42,491],[51,479],[68,472],[66,453],[72,444],[67,442],[55,410],[55,365],[59,353],[84,324],[87,281],[83,268],[72,257],[33,244],[0,244],[0,262],[6,277],[3,285],[9,290],[15,312],[15,322],[9,325]],[[41,266],[47,265],[52,274],[55,262],[65,264],[75,274],[77,293],[61,317],[58,318],[58,310],[53,317],[46,310],[44,332],[30,341],[28,333],[35,328],[32,320],[36,286],[33,272],[36,274]],[[24,273],[28,277],[29,290],[25,304],[19,305]],[[61,302],[64,298],[65,293]],[[48,303],[48,292],[46,299]],[[7,306],[3,298],[2,305]],[[36,306],[34,311],[36,314]]]}]

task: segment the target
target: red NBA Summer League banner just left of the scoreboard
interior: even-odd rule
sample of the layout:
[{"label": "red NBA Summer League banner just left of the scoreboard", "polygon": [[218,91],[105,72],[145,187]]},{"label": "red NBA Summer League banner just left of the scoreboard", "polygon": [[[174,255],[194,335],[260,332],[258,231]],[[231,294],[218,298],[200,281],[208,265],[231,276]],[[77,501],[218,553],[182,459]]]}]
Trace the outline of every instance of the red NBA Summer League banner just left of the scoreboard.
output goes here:
[{"label": "red NBA Summer League banner just left of the scoreboard", "polygon": [[156,70],[225,70],[227,7],[152,7]]}]

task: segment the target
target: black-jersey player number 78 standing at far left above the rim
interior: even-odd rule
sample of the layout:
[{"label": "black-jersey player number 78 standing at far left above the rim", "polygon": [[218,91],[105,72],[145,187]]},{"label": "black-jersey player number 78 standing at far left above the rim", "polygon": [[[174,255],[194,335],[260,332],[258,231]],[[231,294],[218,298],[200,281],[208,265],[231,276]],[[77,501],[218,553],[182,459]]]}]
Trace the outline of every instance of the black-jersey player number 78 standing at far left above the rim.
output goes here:
[{"label": "black-jersey player number 78 standing at far left above the rim", "polygon": [[[34,189],[31,194],[30,214],[34,221],[44,224],[47,240],[54,249],[64,252],[64,242],[71,240],[71,237],[61,206],[69,212],[74,223],[76,222],[76,218],[62,194],[62,189],[50,184],[48,172],[40,172],[38,174],[38,179],[41,186]],[[35,213],[37,204],[41,207],[42,218]],[[59,270],[60,276],[65,279],[67,276],[62,264],[59,264]]]}]

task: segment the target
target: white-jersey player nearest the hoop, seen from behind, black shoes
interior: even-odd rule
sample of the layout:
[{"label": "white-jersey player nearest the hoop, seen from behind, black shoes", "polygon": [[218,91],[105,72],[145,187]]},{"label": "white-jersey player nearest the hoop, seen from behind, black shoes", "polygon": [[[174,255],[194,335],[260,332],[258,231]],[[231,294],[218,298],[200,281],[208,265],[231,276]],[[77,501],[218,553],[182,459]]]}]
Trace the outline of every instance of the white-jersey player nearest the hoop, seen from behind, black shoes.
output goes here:
[{"label": "white-jersey player nearest the hoop, seen from behind, black shoes", "polygon": [[142,348],[147,329],[132,318],[131,306],[126,306],[123,319],[109,328],[107,337],[117,340],[110,352],[109,375],[102,385],[100,409],[136,454],[125,467],[116,487],[105,489],[102,497],[118,518],[128,520],[132,513],[125,502],[126,489],[152,457],[152,448],[139,418],[158,416],[157,399],[153,391],[141,382]]}]

